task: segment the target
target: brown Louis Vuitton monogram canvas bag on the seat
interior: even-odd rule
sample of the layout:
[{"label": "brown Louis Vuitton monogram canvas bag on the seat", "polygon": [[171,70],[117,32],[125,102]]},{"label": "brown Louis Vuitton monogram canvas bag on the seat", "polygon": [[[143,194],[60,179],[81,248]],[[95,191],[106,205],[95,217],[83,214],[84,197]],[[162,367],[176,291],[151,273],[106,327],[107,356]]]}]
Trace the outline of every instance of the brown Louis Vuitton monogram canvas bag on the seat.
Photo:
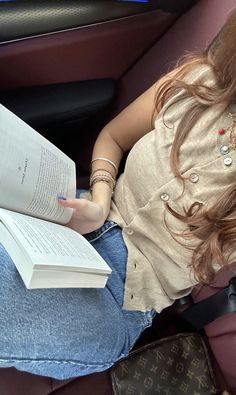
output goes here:
[{"label": "brown Louis Vuitton monogram canvas bag on the seat", "polygon": [[131,352],[113,367],[112,383],[116,395],[218,393],[205,343],[189,333]]}]

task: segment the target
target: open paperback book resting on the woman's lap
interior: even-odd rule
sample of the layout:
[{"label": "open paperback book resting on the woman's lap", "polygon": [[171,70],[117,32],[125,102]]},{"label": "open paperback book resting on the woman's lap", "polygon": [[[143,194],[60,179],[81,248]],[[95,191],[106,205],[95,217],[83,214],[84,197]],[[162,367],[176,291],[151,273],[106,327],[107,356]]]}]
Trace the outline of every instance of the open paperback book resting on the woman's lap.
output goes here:
[{"label": "open paperback book resting on the woman's lap", "polygon": [[75,163],[0,105],[0,243],[27,288],[104,287],[111,269],[66,224]]}]

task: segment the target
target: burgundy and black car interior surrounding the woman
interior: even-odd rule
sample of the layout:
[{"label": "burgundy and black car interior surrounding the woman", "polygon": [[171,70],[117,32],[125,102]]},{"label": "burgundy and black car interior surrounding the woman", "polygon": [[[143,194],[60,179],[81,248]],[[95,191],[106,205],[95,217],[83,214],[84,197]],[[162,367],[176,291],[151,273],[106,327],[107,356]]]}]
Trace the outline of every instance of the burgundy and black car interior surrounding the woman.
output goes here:
[{"label": "burgundy and black car interior surrounding the woman", "polygon": [[[181,56],[204,50],[235,6],[236,0],[0,1],[0,103],[71,157],[77,187],[86,189],[102,127]],[[236,394],[235,278],[236,263],[220,270],[214,284],[196,286],[159,314],[135,347],[199,331],[219,388]],[[217,303],[209,299],[216,293]],[[0,394],[112,395],[113,389],[109,370],[60,381],[4,368]]]}]

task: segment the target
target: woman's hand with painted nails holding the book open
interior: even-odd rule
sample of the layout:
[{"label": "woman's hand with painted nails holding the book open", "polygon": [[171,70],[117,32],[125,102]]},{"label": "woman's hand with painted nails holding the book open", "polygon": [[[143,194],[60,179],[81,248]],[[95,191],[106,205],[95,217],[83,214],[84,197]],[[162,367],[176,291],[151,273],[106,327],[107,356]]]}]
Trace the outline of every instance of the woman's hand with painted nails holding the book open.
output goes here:
[{"label": "woman's hand with painted nails holding the book open", "polygon": [[90,233],[100,228],[106,216],[103,207],[87,199],[59,199],[63,207],[73,208],[73,215],[67,226],[80,234]]}]

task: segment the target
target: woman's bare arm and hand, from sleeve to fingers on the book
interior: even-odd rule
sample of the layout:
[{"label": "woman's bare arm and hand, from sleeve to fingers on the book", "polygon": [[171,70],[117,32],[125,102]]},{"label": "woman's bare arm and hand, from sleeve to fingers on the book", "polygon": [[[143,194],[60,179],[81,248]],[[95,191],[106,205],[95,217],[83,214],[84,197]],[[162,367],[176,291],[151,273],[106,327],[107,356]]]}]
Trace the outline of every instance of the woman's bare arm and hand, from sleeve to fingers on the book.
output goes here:
[{"label": "woman's bare arm and hand, from sleeve to fingers on the book", "polygon": [[[107,158],[118,168],[124,152],[152,129],[155,85],[103,128],[95,142],[92,160]],[[114,166],[104,160],[95,160],[92,163],[92,174],[96,176],[103,173],[116,177]],[[68,226],[82,234],[98,229],[109,214],[111,196],[112,189],[109,183],[96,182],[92,188],[92,201],[86,199],[60,201],[63,206],[74,209]]]}]

